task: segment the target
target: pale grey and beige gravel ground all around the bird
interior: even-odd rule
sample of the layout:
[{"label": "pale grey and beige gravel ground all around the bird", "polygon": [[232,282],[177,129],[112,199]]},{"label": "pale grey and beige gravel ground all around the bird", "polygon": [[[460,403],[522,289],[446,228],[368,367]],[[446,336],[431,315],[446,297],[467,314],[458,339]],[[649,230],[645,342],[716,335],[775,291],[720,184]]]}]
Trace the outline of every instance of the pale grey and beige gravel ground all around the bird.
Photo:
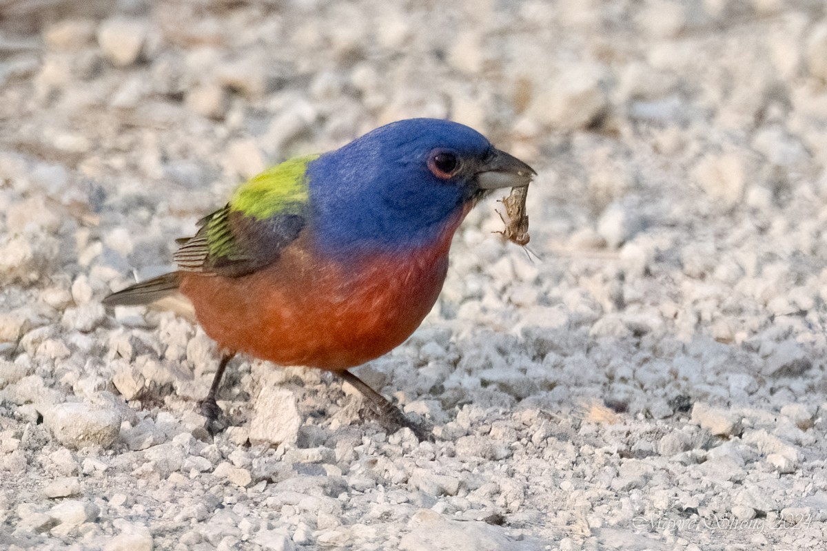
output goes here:
[{"label": "pale grey and beige gravel ground all around the bird", "polygon": [[[0,2],[0,548],[815,549],[820,0]],[[448,116],[538,170],[357,373],[217,366],[170,268],[241,181]]]}]

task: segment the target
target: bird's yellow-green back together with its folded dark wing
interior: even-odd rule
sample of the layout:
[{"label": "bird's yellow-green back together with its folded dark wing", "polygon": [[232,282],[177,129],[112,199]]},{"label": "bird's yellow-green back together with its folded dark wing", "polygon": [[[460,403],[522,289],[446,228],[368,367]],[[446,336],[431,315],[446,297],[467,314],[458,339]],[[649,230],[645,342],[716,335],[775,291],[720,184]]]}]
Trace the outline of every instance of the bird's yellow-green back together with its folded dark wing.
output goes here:
[{"label": "bird's yellow-green back together with its folded dark wing", "polygon": [[198,221],[174,254],[185,272],[239,277],[279,258],[306,223],[307,166],[318,155],[290,159],[251,178],[230,202]]}]

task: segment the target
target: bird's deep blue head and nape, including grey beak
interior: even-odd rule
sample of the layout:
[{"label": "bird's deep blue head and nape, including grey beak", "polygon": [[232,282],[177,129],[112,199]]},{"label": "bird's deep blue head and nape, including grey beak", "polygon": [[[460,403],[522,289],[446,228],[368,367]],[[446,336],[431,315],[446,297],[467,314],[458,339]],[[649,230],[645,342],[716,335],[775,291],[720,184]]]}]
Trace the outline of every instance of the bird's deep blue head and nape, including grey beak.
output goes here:
[{"label": "bird's deep blue head and nape, including grey beak", "polygon": [[528,185],[533,174],[456,122],[381,126],[308,164],[317,242],[348,256],[428,246],[466,205]]}]

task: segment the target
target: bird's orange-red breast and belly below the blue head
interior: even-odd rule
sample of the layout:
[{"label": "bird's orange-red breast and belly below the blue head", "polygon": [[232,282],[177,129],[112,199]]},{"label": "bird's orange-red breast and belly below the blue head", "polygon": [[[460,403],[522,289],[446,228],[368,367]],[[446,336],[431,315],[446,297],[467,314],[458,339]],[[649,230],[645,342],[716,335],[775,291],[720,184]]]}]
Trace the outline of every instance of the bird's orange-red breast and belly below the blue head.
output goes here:
[{"label": "bird's orange-red breast and belly below the blue head", "polygon": [[342,370],[401,344],[442,290],[454,231],[406,253],[326,259],[300,236],[267,268],[240,278],[183,272],[181,292],[225,349],[280,365]]}]

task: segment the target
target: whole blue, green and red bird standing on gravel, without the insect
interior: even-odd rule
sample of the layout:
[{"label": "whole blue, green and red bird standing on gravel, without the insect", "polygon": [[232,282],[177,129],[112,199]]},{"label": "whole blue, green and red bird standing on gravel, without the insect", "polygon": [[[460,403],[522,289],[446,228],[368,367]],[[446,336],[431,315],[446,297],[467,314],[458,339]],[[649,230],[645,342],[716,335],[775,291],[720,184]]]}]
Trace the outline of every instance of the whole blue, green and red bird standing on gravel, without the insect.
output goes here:
[{"label": "whole blue, green and red bird standing on gravel, without the insect", "polygon": [[201,412],[235,354],[335,373],[380,419],[408,420],[349,371],[418,328],[442,290],[452,236],[480,199],[536,172],[469,126],[392,122],[324,154],[289,159],[242,183],[179,239],[177,268],[103,299],[146,305],[179,293],[222,351]]}]

